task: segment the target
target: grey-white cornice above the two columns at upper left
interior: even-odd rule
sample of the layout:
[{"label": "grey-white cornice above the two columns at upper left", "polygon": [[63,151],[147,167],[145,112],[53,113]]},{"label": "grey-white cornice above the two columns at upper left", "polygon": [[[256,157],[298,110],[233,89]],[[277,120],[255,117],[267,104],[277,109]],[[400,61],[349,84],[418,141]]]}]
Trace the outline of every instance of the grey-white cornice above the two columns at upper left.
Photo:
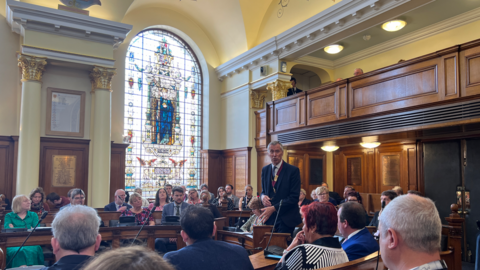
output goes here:
[{"label": "grey-white cornice above the two columns at upper left", "polygon": [[7,0],[7,22],[12,31],[25,30],[84,39],[118,47],[132,26],[68,11]]}]

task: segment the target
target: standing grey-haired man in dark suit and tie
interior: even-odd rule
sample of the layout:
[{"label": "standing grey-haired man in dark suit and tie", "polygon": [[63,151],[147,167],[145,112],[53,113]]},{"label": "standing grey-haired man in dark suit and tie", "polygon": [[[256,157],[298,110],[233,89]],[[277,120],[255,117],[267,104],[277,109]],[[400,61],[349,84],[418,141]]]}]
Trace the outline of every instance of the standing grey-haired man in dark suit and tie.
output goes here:
[{"label": "standing grey-haired man in dark suit and tie", "polygon": [[[262,169],[261,198],[265,208],[260,217],[265,218],[266,225],[274,225],[279,233],[293,233],[295,227],[302,222],[298,211],[300,170],[282,160],[283,145],[278,141],[268,145],[268,155],[272,164]],[[277,212],[279,209],[280,212]]]}]

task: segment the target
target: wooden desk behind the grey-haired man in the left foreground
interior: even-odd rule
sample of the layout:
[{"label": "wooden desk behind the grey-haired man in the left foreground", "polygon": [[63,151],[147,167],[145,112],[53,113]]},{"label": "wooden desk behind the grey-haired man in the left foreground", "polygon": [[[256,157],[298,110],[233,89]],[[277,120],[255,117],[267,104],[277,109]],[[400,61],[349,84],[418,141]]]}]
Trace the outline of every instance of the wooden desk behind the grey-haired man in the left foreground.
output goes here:
[{"label": "wooden desk behind the grey-haired man in the left foreground", "polygon": [[[100,228],[99,233],[102,236],[102,240],[112,241],[112,248],[120,247],[120,240],[133,239],[140,230],[140,226],[130,227],[104,227]],[[138,236],[138,239],[147,239],[147,246],[155,250],[156,238],[177,238],[177,248],[181,249],[186,246],[180,235],[180,226],[145,226]],[[6,262],[6,248],[7,247],[19,247],[29,232],[17,232],[17,233],[2,233],[0,236],[0,248],[4,251],[1,261]],[[26,246],[35,245],[50,245],[52,239],[51,231],[36,231],[30,236]],[[2,265],[2,269],[5,267]]]}]

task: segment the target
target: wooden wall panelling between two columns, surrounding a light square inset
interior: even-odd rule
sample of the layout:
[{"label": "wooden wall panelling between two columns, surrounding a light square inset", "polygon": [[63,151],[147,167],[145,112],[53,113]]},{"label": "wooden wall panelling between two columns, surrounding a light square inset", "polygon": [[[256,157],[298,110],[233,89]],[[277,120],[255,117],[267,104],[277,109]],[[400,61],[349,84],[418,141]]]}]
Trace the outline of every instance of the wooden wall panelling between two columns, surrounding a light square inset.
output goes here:
[{"label": "wooden wall panelling between two columns, surrounding a light square inset", "polygon": [[[56,192],[66,196],[72,188],[81,188],[88,197],[88,152],[90,140],[40,138],[40,181],[45,194]],[[76,156],[75,183],[73,186],[53,186],[53,156]]]}]

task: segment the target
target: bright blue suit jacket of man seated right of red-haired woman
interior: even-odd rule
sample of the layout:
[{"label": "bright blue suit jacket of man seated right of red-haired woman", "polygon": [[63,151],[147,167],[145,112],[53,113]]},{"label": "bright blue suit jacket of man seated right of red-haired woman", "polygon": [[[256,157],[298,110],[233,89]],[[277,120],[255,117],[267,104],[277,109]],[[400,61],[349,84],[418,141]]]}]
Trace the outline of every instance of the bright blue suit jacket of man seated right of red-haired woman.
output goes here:
[{"label": "bright blue suit jacket of man seated right of red-haired woman", "polygon": [[379,249],[377,241],[367,228],[363,228],[357,234],[345,240],[342,243],[342,248],[347,253],[349,261],[363,258]]}]

